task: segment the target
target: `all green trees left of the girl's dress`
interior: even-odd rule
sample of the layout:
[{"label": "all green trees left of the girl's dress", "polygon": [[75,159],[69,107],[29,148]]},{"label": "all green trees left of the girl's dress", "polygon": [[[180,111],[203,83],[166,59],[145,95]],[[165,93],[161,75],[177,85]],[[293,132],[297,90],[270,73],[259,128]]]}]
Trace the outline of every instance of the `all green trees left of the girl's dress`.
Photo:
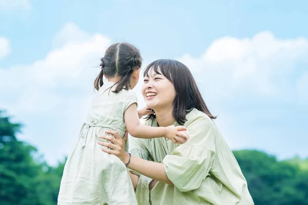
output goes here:
[{"label": "all green trees left of the girl's dress", "polygon": [[56,204],[64,163],[54,168],[33,159],[37,150],[16,138],[22,126],[4,114],[0,112],[0,204]]}]

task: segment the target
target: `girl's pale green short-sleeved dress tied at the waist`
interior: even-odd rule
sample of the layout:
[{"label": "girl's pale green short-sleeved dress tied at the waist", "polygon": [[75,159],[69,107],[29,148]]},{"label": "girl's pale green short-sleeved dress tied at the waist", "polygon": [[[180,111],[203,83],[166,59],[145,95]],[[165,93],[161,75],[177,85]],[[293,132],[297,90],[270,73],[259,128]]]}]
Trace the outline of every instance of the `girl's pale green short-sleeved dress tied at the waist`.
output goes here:
[{"label": "girl's pale green short-sleeved dress tied at the waist", "polygon": [[93,97],[86,123],[68,155],[57,204],[138,204],[124,163],[98,145],[103,140],[99,136],[106,130],[113,129],[124,136],[124,112],[137,103],[131,90],[111,92],[115,89],[113,84],[104,83]]}]

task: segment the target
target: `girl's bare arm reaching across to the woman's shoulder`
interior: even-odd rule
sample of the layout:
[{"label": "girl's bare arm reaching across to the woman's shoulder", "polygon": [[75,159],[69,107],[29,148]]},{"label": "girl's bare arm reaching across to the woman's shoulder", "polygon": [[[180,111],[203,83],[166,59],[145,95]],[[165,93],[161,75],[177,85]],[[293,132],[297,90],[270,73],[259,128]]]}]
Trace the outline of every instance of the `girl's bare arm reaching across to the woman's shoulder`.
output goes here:
[{"label": "girl's bare arm reaching across to the woman's shoulder", "polygon": [[136,103],[131,104],[124,112],[124,120],[129,134],[137,138],[158,138],[167,137],[176,142],[181,142],[179,137],[186,139],[187,137],[180,131],[186,130],[182,126],[168,126],[168,127],[150,127],[140,124]]}]

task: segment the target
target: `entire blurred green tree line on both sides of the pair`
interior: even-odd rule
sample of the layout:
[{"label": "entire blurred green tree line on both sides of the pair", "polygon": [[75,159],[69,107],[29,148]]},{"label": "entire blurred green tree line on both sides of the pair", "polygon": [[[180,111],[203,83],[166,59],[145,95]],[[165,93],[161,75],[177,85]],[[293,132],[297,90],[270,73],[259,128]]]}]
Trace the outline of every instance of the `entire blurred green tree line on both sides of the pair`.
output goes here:
[{"label": "entire blurred green tree line on both sides of the pair", "polygon": [[[49,166],[16,134],[22,125],[0,111],[0,204],[57,203],[65,160]],[[259,150],[233,151],[256,205],[308,204],[308,158],[277,160]]]}]

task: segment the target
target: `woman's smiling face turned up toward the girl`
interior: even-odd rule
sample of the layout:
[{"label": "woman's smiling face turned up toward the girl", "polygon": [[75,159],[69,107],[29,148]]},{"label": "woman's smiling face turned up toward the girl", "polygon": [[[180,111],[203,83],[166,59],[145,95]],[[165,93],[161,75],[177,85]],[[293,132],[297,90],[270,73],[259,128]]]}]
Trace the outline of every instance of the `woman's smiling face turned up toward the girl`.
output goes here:
[{"label": "woman's smiling face turned up toward the girl", "polygon": [[163,74],[156,73],[153,69],[144,77],[141,92],[146,107],[156,112],[173,107],[176,98],[174,85]]}]

